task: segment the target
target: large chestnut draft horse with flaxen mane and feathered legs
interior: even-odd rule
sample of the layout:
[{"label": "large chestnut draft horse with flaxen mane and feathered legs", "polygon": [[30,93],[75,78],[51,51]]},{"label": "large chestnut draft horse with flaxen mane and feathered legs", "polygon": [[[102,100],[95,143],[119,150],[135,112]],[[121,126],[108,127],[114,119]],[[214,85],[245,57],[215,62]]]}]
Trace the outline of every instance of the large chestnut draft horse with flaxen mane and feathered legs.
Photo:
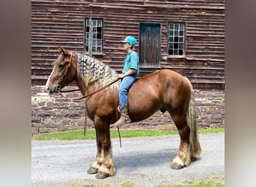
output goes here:
[{"label": "large chestnut draft horse with flaxen mane and feathered legs", "polygon": [[[49,95],[58,93],[61,88],[76,81],[85,96],[118,78],[115,70],[88,55],[70,52],[62,47],[59,49],[61,55],[53,63],[52,73],[46,82]],[[97,179],[115,175],[110,124],[120,117],[119,85],[120,82],[115,82],[85,98],[88,117],[94,121],[97,138],[97,156],[88,174],[96,174]],[[158,70],[142,76],[129,89],[128,111],[132,122],[144,120],[160,108],[165,108],[171,114],[180,135],[180,147],[171,162],[173,169],[189,166],[201,153],[194,102],[194,91],[189,79],[171,70]]]}]

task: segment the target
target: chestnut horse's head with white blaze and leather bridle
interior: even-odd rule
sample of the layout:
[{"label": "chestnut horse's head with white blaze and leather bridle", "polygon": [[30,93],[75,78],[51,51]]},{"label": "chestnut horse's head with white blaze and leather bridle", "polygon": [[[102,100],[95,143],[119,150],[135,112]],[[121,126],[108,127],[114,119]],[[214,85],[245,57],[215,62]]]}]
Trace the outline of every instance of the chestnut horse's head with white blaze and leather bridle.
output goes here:
[{"label": "chestnut horse's head with white blaze and leather bridle", "polygon": [[73,60],[73,54],[70,51],[58,47],[61,55],[53,63],[53,70],[46,82],[46,88],[49,94],[59,93],[61,88],[73,82],[76,79],[76,63]]}]

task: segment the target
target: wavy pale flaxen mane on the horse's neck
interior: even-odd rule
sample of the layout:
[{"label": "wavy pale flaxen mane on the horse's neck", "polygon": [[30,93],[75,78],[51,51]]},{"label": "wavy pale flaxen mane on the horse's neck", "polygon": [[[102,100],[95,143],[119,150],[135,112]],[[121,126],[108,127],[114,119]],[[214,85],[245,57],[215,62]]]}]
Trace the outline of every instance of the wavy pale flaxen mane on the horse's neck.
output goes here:
[{"label": "wavy pale flaxen mane on the horse's neck", "polygon": [[[89,88],[95,84],[107,85],[118,79],[118,73],[103,62],[85,54],[78,53],[77,73]],[[115,84],[117,86],[117,84]]]}]

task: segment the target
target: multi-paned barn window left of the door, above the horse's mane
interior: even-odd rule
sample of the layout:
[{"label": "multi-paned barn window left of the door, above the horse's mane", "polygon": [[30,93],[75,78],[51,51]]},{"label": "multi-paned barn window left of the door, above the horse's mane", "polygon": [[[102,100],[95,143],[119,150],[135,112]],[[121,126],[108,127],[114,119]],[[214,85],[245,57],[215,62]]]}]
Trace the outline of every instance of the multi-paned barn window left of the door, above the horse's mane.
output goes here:
[{"label": "multi-paned barn window left of the door, above the horse's mane", "polygon": [[[90,31],[91,27],[91,31]],[[90,43],[91,38],[91,43]],[[91,44],[91,45],[90,45]],[[91,48],[91,50],[90,50]],[[103,20],[85,18],[85,52],[103,52]]]}]

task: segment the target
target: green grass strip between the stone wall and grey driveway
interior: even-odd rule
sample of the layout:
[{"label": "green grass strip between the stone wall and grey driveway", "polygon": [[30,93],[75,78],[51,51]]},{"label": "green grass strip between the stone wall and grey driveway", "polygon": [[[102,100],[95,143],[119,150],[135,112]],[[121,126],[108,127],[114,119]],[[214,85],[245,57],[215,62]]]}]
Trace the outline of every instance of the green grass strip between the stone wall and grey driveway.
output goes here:
[{"label": "green grass strip between the stone wall and grey driveway", "polygon": [[[199,129],[199,134],[225,132],[224,128],[216,129]],[[118,130],[111,129],[110,135],[112,138],[118,138]],[[163,135],[178,135],[177,130],[145,130],[145,129],[124,129],[120,130],[121,138],[136,138],[136,137],[156,137]],[[33,141],[72,141],[72,140],[95,140],[95,130],[88,129],[84,136],[83,130],[73,130],[68,132],[52,132],[32,137]]]}]

